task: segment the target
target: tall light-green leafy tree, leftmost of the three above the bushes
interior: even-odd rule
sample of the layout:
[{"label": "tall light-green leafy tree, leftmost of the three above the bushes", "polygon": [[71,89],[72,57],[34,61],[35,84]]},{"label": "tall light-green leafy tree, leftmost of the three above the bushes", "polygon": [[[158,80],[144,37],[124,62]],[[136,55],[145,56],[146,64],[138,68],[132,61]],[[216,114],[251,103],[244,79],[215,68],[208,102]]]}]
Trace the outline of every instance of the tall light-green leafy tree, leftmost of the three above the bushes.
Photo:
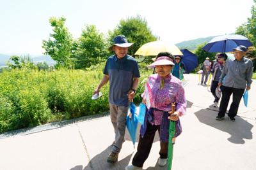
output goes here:
[{"label": "tall light-green leafy tree, leftmost of the three above the bushes", "polygon": [[66,18],[51,17],[49,22],[53,27],[53,34],[50,34],[48,41],[43,41],[45,55],[51,55],[52,59],[56,60],[56,67],[71,67],[72,61],[72,36],[65,27]]}]

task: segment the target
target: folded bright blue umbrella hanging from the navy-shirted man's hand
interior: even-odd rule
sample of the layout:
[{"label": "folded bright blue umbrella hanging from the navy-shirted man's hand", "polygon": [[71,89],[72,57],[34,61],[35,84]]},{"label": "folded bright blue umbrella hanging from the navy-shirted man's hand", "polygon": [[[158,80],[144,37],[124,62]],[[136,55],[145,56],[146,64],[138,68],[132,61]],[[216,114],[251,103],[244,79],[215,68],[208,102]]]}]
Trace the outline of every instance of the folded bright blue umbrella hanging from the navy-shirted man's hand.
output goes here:
[{"label": "folded bright blue umbrella hanging from the navy-shirted man's hand", "polygon": [[131,136],[132,143],[135,146],[136,142],[136,131],[138,127],[138,116],[136,115],[136,106],[133,102],[129,104],[131,114],[126,117],[126,127]]}]

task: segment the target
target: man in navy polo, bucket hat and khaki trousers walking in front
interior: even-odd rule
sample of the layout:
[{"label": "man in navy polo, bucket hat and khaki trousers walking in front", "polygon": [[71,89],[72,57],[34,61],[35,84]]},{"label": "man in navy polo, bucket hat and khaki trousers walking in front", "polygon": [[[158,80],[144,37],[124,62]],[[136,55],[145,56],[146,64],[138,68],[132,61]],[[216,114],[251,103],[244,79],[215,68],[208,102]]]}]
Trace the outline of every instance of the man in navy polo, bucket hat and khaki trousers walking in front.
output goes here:
[{"label": "man in navy polo, bucket hat and khaki trousers walking in front", "polygon": [[124,142],[129,101],[135,95],[140,78],[138,63],[133,57],[127,55],[131,45],[132,43],[128,43],[125,36],[119,35],[113,39],[113,45],[109,50],[113,50],[115,55],[108,58],[102,81],[93,93],[99,94],[100,88],[109,81],[109,112],[115,130],[115,141],[108,157],[109,163],[115,163],[118,160],[118,153]]}]

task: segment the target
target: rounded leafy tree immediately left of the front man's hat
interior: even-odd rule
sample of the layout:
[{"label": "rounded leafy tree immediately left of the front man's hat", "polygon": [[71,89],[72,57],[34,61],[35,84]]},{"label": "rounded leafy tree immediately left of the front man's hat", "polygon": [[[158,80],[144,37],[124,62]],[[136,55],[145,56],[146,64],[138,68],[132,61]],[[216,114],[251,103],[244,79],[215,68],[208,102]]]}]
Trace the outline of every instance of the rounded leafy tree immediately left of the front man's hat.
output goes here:
[{"label": "rounded leafy tree immediately left of the front man's hat", "polygon": [[73,47],[76,69],[90,67],[108,57],[106,39],[95,25],[86,25],[81,37],[74,42]]}]

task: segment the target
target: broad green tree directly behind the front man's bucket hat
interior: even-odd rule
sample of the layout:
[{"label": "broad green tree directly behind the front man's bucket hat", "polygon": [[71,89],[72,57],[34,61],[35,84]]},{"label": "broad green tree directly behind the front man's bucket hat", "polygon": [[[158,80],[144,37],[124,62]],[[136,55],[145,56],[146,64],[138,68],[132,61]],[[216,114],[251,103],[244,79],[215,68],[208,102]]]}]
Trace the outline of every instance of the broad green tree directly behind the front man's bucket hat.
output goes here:
[{"label": "broad green tree directly behind the front man's bucket hat", "polygon": [[141,45],[150,41],[156,41],[156,36],[152,34],[150,27],[148,27],[147,20],[140,16],[129,17],[126,20],[120,20],[120,23],[113,31],[109,31],[109,42],[112,42],[113,38],[117,35],[124,35],[127,41],[134,43],[129,48],[129,54],[134,53],[140,48]]}]

